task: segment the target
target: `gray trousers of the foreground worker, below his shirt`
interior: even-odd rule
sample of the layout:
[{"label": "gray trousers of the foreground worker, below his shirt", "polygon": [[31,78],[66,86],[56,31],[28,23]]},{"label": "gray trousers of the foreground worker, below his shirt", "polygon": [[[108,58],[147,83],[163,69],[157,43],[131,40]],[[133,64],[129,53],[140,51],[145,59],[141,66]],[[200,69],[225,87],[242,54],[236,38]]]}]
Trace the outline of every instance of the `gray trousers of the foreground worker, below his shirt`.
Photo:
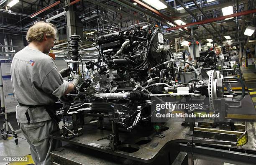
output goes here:
[{"label": "gray trousers of the foreground worker, below his shirt", "polygon": [[50,138],[49,134],[59,130],[59,125],[48,120],[31,124],[20,123],[20,129],[29,144],[35,165],[50,165],[50,152],[61,147],[61,141]]}]

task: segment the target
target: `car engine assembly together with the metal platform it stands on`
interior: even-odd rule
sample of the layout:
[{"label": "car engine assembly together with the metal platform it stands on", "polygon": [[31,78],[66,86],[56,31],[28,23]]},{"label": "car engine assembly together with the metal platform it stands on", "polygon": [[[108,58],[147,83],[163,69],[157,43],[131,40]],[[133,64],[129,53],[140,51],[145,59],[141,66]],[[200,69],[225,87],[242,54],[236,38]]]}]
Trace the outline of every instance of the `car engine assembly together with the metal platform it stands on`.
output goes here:
[{"label": "car engine assembly together with the metal platform it stands on", "polygon": [[[79,68],[79,64],[84,66],[79,41],[80,36],[70,36],[71,57],[67,63],[82,75],[82,80],[72,94],[61,98],[56,114],[62,117],[63,127],[53,132],[52,138],[144,163],[159,161],[171,153],[166,164],[172,163],[184,148],[196,152],[203,145],[250,151],[247,161],[256,160],[256,148],[251,147],[255,146],[253,122],[228,118],[230,109],[244,106],[241,78],[223,76],[220,70],[205,71],[174,58],[161,29],[148,24],[100,36],[97,61],[85,63],[89,71],[86,79],[85,69]],[[177,62],[191,66],[193,81],[175,80]],[[233,80],[241,83],[240,96],[224,94],[224,83]],[[173,114],[200,112],[219,117],[200,121],[156,119],[159,112],[154,105],[164,104],[166,99],[175,104],[202,103],[200,111],[183,108],[175,109]],[[51,157],[56,162],[59,159],[56,152]]]}]

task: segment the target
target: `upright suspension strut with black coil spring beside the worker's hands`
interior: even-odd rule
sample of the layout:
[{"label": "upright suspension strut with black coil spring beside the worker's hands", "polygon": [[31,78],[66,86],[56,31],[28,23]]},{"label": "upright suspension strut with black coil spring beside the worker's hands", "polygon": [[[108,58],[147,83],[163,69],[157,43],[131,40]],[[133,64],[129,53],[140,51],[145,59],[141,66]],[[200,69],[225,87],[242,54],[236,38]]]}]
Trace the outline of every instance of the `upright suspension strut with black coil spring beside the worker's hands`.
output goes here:
[{"label": "upright suspension strut with black coil spring beside the worker's hands", "polygon": [[68,53],[71,54],[71,57],[69,60],[66,60],[67,63],[72,63],[72,69],[73,71],[76,71],[77,73],[79,73],[79,63],[81,63],[81,61],[79,60],[80,56],[79,56],[79,42],[81,41],[80,39],[81,37],[77,34],[74,34],[72,36],[70,36],[70,40],[68,41],[69,46],[68,48]]}]

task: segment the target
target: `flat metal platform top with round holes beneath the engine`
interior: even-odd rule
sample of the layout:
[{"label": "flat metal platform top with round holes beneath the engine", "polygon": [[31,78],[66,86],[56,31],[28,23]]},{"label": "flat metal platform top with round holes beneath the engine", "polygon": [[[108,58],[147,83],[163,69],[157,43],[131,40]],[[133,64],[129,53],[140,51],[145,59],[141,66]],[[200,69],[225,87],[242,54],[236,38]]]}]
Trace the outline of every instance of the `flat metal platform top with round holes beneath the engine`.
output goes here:
[{"label": "flat metal platform top with round holes beneath the engine", "polygon": [[[172,122],[172,120],[169,120],[169,122],[167,122],[165,126],[161,128],[162,133],[165,135],[164,138],[156,137],[154,131],[147,131],[142,128],[133,129],[133,132],[119,132],[119,139],[122,141],[122,144],[118,146],[118,150],[111,151],[106,149],[109,145],[109,140],[104,139],[98,141],[99,139],[107,137],[109,134],[111,134],[111,131],[97,129],[97,127],[97,123],[84,125],[83,134],[79,137],[74,137],[74,139],[71,140],[67,140],[59,136],[59,132],[55,132],[51,135],[51,137],[54,139],[67,141],[81,147],[145,163],[154,162],[154,160],[161,155],[161,152],[166,151],[166,147],[169,148],[168,152],[171,152],[173,149],[169,146],[175,145],[177,142],[192,143],[193,133],[189,130],[189,127],[182,127],[181,123]],[[228,141],[200,137],[194,137],[193,142],[199,144],[228,145],[227,147],[229,148],[247,150],[256,153],[256,124],[252,122],[247,123],[247,130],[248,142],[246,145],[241,147],[230,147],[229,145],[231,145],[231,143]]]}]

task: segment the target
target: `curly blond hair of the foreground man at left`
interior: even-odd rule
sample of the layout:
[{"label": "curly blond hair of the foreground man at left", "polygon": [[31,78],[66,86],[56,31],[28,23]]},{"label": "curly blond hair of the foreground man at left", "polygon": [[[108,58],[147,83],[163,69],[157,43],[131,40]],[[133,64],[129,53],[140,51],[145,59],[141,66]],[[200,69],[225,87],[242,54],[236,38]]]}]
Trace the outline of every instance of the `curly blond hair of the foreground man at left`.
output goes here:
[{"label": "curly blond hair of the foreground man at left", "polygon": [[39,21],[28,29],[26,40],[28,43],[32,41],[41,42],[44,40],[44,34],[46,34],[47,37],[51,36],[55,38],[56,32],[57,30],[53,24]]}]

